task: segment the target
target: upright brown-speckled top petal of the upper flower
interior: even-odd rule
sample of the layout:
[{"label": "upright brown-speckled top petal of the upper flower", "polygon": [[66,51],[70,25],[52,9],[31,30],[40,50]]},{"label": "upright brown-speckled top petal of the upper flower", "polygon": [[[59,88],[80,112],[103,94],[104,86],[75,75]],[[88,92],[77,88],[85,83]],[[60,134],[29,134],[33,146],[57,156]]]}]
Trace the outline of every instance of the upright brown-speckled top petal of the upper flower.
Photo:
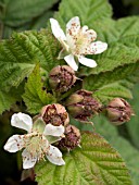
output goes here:
[{"label": "upright brown-speckled top petal of the upper flower", "polygon": [[75,16],[66,24],[66,35],[74,36],[80,29],[80,21],[78,16]]}]

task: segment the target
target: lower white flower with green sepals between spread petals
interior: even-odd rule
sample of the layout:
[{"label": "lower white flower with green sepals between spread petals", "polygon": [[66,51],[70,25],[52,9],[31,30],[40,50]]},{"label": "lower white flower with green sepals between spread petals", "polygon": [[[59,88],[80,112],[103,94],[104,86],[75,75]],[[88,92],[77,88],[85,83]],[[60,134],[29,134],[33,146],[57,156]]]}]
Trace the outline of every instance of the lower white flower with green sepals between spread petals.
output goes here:
[{"label": "lower white flower with green sepals between spread petals", "polygon": [[61,139],[64,126],[46,125],[41,119],[33,124],[31,118],[21,112],[12,115],[11,125],[28,132],[25,135],[13,135],[4,145],[4,149],[9,152],[16,152],[25,148],[22,152],[23,169],[33,168],[38,160],[45,159],[45,157],[56,165],[65,164],[61,151],[50,145]]}]

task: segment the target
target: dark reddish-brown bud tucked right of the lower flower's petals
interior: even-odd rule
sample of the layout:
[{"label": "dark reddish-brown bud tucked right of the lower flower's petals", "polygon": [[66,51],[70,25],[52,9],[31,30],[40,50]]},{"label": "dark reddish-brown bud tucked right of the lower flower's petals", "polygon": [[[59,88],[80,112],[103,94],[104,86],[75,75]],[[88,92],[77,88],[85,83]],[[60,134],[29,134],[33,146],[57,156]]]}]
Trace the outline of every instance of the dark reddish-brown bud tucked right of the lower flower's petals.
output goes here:
[{"label": "dark reddish-brown bud tucked right of the lower flower's petals", "polygon": [[67,125],[65,127],[64,135],[65,135],[65,137],[63,137],[59,141],[59,145],[58,145],[58,147],[60,147],[60,149],[72,150],[72,149],[76,148],[77,146],[79,146],[80,132],[77,127],[75,127],[74,125]]}]

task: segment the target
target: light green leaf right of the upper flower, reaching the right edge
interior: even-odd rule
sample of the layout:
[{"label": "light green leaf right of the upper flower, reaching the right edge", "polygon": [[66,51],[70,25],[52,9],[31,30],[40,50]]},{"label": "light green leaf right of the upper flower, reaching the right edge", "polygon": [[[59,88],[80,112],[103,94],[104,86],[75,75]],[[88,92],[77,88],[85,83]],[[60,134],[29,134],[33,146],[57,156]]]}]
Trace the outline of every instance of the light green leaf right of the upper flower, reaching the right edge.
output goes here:
[{"label": "light green leaf right of the upper flower, reaching the right edge", "polygon": [[[108,42],[108,50],[102,54],[91,55],[97,61],[94,69],[80,67],[80,74],[99,74],[123,67],[139,61],[139,16],[112,21],[106,18],[98,22],[94,27],[100,40]],[[93,28],[93,24],[92,24]]]}]

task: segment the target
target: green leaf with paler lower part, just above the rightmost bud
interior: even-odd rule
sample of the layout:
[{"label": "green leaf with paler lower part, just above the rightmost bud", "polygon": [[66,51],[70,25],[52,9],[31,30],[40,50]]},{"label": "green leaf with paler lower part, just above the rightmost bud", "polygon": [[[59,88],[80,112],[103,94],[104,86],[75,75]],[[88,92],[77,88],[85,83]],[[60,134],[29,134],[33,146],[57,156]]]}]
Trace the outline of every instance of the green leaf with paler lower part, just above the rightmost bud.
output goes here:
[{"label": "green leaf with paler lower part, just above the rightmost bud", "polygon": [[101,102],[115,97],[132,98],[130,89],[139,79],[139,62],[117,67],[113,72],[90,75],[84,79],[84,88],[94,91],[93,96]]}]

